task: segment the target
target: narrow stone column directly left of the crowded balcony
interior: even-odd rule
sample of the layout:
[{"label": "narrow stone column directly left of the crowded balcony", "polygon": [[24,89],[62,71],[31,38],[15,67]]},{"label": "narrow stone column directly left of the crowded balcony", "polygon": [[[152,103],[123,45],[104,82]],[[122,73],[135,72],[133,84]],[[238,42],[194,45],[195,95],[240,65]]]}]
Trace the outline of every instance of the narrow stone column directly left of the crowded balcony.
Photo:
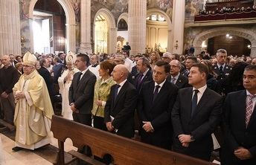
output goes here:
[{"label": "narrow stone column directly left of the crowded balcony", "polygon": [[173,0],[173,43],[171,52],[173,54],[183,53],[185,23],[185,1]]}]

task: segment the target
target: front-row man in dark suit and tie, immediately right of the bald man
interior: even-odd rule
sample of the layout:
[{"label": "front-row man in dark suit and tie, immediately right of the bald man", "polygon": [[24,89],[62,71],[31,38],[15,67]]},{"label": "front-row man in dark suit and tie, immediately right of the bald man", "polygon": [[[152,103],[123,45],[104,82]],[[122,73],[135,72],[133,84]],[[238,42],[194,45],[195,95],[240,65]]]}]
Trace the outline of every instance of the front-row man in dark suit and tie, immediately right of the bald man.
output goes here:
[{"label": "front-row man in dark suit and tie, immediately right of the bald man", "polygon": [[173,128],[170,111],[178,88],[166,80],[170,65],[156,62],[153,81],[144,83],[138,99],[138,116],[141,123],[141,140],[164,149],[171,149]]}]

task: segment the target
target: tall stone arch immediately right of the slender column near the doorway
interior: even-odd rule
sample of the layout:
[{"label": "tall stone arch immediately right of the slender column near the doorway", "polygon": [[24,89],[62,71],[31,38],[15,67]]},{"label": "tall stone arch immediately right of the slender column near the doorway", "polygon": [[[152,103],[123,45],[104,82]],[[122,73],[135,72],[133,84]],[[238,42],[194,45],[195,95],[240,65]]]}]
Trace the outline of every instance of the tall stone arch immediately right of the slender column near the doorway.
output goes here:
[{"label": "tall stone arch immediately right of the slender column near the doorway", "polygon": [[106,22],[108,24],[108,42],[107,42],[107,53],[108,54],[113,54],[116,52],[115,49],[115,43],[117,42],[117,28],[116,28],[116,24],[115,24],[115,18],[113,16],[113,14],[106,8],[101,8],[100,10],[97,11],[97,13],[95,14],[95,20],[94,20],[94,28],[93,28],[93,35],[94,35],[94,41],[95,41],[95,21],[97,16],[102,15],[105,17]]}]

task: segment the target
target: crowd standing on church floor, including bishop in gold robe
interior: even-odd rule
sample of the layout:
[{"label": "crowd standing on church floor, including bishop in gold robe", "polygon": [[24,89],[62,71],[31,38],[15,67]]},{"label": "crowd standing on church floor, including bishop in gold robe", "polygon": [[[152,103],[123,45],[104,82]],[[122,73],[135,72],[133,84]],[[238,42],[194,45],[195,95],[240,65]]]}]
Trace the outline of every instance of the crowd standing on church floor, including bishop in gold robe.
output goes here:
[{"label": "crowd standing on church floor, including bishop in gold robe", "polygon": [[205,161],[220,129],[222,164],[256,164],[256,58],[224,49],[214,56],[28,52],[2,56],[0,68],[1,119],[16,126],[14,151],[49,143],[60,93],[68,120],[126,138],[138,127],[142,142]]}]

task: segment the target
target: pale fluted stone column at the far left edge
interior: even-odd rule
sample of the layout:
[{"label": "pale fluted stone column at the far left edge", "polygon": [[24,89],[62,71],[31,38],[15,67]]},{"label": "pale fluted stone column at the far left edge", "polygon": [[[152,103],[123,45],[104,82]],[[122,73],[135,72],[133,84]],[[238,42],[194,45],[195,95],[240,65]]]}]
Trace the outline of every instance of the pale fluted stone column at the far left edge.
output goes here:
[{"label": "pale fluted stone column at the far left edge", "polygon": [[22,54],[18,0],[0,1],[0,57],[4,54]]}]

